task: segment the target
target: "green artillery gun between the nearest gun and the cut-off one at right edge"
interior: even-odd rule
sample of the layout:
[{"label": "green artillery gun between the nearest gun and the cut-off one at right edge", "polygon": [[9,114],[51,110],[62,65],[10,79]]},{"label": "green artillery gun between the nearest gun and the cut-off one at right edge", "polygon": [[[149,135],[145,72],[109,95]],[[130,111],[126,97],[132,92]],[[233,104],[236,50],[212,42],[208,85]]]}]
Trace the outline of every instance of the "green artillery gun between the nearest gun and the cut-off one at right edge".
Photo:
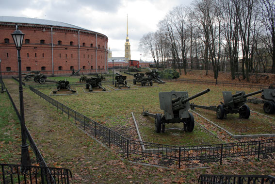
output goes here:
[{"label": "green artillery gun between the nearest gun and the cut-off one at right edge", "polygon": [[263,90],[255,91],[245,95],[244,91],[236,91],[236,94],[232,95],[231,91],[223,91],[224,102],[216,106],[202,106],[191,104],[191,109],[195,107],[216,111],[218,119],[227,118],[227,114],[239,113],[240,118],[248,119],[250,116],[250,109],[246,105],[246,97],[261,93]]}]

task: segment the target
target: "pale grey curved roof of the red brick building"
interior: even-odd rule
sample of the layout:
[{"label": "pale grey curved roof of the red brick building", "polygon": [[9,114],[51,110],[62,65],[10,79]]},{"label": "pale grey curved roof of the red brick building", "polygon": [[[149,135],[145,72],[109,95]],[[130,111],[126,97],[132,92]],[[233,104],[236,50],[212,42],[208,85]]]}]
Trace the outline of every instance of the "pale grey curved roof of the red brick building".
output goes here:
[{"label": "pale grey curved roof of the red brick building", "polygon": [[27,17],[8,17],[8,16],[0,16],[0,22],[14,22],[14,23],[23,23],[23,24],[39,24],[39,25],[49,25],[49,26],[59,26],[59,27],[68,27],[74,29],[81,29],[90,31],[78,26],[74,26],[72,24],[67,24],[64,22],[58,22],[53,20],[45,20],[39,18],[27,18]]}]

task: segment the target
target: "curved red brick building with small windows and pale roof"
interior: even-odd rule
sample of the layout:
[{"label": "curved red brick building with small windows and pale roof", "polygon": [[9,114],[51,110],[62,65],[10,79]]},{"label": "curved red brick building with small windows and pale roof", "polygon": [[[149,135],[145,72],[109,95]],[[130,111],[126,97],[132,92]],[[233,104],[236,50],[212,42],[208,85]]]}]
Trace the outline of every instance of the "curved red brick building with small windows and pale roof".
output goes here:
[{"label": "curved red brick building with small windows and pale roof", "polygon": [[[17,50],[11,33],[25,33],[22,71],[42,71],[47,75],[107,71],[108,37],[71,24],[26,17],[0,16],[0,59],[2,75],[16,75]],[[12,70],[12,71],[10,71]]]}]

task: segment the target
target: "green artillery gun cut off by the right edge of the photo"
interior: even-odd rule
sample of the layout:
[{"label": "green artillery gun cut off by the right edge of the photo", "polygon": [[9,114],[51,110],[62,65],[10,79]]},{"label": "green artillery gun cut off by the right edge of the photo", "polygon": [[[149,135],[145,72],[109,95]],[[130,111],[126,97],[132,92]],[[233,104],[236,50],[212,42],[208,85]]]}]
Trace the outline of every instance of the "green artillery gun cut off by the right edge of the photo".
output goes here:
[{"label": "green artillery gun cut off by the right edge of the photo", "polygon": [[275,85],[271,84],[268,89],[263,89],[262,100],[248,99],[248,102],[263,103],[263,111],[267,114],[275,113]]}]

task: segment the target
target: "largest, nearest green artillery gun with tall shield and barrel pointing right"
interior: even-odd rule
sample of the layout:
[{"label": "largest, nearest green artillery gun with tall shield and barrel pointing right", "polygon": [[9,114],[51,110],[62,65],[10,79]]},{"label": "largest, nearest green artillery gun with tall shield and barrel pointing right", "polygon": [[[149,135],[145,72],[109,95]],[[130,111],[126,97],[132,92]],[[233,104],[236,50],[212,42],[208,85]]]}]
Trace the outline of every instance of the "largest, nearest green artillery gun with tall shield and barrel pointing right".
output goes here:
[{"label": "largest, nearest green artillery gun with tall shield and barrel pointing right", "polygon": [[188,112],[190,108],[189,100],[197,98],[205,93],[208,93],[210,89],[201,91],[194,96],[188,98],[187,91],[171,91],[160,92],[160,107],[164,111],[162,114],[152,114],[147,111],[143,111],[144,116],[155,118],[155,129],[157,133],[165,131],[165,124],[180,123],[182,122],[185,131],[192,132],[194,129],[194,117],[193,114]]}]

